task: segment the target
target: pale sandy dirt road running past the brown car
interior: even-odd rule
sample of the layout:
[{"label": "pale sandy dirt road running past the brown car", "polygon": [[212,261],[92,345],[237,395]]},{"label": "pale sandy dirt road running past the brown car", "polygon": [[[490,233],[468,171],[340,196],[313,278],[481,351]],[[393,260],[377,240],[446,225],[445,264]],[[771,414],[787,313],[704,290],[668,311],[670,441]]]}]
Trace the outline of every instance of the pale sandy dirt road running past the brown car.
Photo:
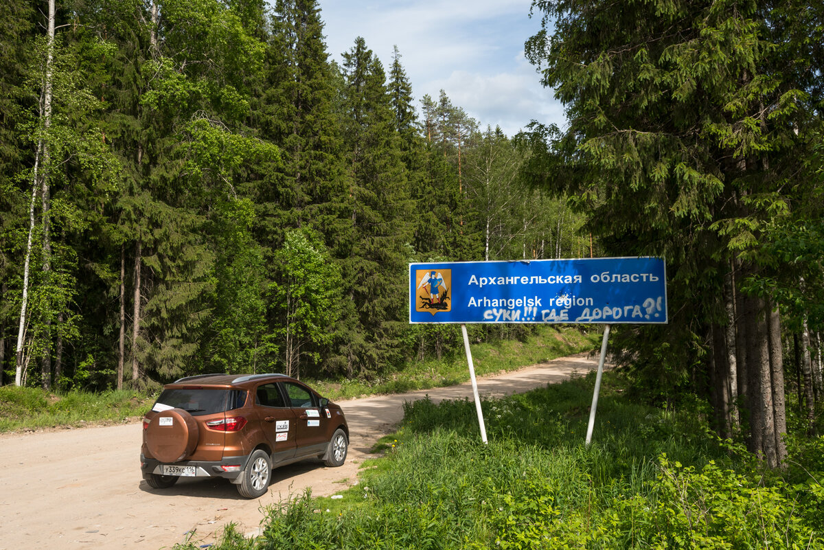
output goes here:
[{"label": "pale sandy dirt road running past the brown car", "polygon": [[[482,395],[524,392],[597,367],[583,356],[478,380]],[[340,468],[320,461],[275,469],[269,492],[247,501],[223,480],[183,478],[171,489],[140,475],[140,423],[0,436],[0,550],[157,548],[214,541],[229,522],[255,534],[265,506],[311,487],[329,496],[357,481],[369,449],[403,417],[404,401],[472,395],[471,385],[340,402],[351,441]],[[480,442],[480,441],[479,441]]]}]

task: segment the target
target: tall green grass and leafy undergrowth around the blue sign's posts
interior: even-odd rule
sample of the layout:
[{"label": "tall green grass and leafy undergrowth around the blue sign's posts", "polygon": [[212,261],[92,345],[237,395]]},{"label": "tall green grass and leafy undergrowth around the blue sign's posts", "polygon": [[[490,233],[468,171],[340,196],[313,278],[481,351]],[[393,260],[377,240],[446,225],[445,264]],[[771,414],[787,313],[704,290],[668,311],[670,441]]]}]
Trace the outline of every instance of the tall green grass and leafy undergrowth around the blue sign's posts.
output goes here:
[{"label": "tall green grass and leafy undergrowth around the blue sign's posts", "polygon": [[[710,435],[700,403],[630,402],[607,373],[592,445],[592,375],[483,403],[405,407],[385,456],[342,500],[298,496],[263,534],[215,548],[824,548],[824,440],[772,473]],[[194,544],[190,544],[193,547]]]}]

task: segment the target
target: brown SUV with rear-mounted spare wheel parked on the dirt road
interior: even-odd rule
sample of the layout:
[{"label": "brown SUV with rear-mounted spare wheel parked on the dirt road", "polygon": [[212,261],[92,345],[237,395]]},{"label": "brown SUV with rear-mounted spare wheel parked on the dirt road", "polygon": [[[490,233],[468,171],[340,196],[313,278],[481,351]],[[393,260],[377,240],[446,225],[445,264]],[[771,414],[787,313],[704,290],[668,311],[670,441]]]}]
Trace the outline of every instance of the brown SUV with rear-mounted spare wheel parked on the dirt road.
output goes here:
[{"label": "brown SUV with rear-mounted spare wheel parked on the dirt road", "polygon": [[140,468],[150,487],[180,477],[227,478],[246,498],[263,495],[274,466],[349,448],[344,412],[286,375],[199,375],[167,384],[143,418]]}]

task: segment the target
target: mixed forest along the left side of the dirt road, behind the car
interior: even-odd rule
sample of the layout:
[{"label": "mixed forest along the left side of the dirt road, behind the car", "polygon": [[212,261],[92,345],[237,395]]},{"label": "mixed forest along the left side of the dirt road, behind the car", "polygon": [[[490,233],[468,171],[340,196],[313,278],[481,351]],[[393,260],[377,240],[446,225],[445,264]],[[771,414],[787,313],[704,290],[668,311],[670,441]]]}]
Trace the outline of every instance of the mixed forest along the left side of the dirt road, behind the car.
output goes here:
[{"label": "mixed forest along the left side of the dirt road, behind the car", "polygon": [[408,325],[408,263],[584,252],[524,147],[397,50],[331,62],[316,2],[48,6],[0,13],[5,383],[372,376],[456,343]]}]

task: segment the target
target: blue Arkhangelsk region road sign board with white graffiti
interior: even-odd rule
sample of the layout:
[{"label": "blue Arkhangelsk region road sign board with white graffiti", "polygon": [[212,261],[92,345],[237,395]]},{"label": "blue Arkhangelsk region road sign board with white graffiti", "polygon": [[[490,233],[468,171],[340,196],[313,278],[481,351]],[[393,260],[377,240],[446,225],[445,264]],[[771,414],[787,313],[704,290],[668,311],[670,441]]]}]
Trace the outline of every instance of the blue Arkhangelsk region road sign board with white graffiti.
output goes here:
[{"label": "blue Arkhangelsk region road sign board with white graffiti", "polygon": [[667,323],[661,258],[410,263],[410,323]]}]

